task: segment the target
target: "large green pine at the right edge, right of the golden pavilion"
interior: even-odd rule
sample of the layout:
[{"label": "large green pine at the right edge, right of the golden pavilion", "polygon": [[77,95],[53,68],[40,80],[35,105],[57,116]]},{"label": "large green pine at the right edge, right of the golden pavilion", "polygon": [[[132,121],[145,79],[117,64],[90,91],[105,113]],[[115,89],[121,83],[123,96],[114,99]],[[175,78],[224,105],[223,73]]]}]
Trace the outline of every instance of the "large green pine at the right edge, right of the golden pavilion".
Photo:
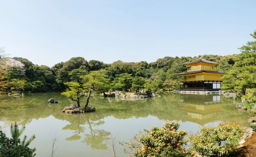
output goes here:
[{"label": "large green pine at the right edge, right of the golden pavilion", "polygon": [[[256,31],[250,36],[256,39]],[[239,49],[241,53],[237,56],[233,69],[222,77],[221,88],[241,90],[245,95],[247,88],[256,88],[256,40],[247,42]]]}]

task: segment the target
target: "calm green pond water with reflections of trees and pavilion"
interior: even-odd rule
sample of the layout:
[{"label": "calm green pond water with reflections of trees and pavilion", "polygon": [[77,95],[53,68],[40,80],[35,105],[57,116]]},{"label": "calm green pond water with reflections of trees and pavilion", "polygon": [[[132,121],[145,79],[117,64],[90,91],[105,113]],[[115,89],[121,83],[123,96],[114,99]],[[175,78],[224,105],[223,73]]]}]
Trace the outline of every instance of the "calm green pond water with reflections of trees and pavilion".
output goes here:
[{"label": "calm green pond water with reflections of trees and pavilion", "polygon": [[[112,157],[102,135],[118,134],[119,141],[128,141],[144,128],[162,126],[166,119],[180,121],[180,129],[188,132],[220,121],[233,120],[248,126],[250,115],[239,111],[233,99],[224,95],[160,95],[137,101],[91,98],[89,105],[96,107],[96,112],[72,115],[61,112],[73,102],[60,93],[36,93],[21,98],[0,95],[0,129],[9,136],[11,123],[25,124],[23,135],[36,135],[30,146],[36,147],[38,157],[51,153],[56,132],[60,137],[55,144],[59,157]],[[59,103],[47,104],[49,98]],[[81,104],[85,101],[82,99]],[[117,151],[121,157],[128,156],[122,153],[121,146]]]}]

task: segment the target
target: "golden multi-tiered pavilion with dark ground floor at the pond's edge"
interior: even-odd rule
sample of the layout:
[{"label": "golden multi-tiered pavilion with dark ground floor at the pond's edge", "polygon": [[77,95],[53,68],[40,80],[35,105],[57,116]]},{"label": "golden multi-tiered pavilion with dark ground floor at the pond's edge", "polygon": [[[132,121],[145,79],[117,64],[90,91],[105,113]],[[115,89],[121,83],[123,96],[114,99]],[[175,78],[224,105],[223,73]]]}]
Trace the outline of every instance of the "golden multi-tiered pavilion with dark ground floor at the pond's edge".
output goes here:
[{"label": "golden multi-tiered pavilion with dark ground floor at the pond's edge", "polygon": [[217,91],[221,89],[221,75],[213,66],[219,63],[206,59],[197,59],[185,63],[188,66],[185,73],[176,73],[183,78],[180,80],[180,90]]}]

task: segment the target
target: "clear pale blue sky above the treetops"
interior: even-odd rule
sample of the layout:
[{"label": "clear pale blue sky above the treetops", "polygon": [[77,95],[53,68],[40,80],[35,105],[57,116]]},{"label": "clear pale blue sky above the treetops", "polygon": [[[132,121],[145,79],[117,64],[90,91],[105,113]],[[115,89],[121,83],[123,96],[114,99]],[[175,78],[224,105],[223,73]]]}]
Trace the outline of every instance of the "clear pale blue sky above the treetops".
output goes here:
[{"label": "clear pale blue sky above the treetops", "polygon": [[52,67],[228,55],[252,41],[256,0],[0,0],[0,47]]}]

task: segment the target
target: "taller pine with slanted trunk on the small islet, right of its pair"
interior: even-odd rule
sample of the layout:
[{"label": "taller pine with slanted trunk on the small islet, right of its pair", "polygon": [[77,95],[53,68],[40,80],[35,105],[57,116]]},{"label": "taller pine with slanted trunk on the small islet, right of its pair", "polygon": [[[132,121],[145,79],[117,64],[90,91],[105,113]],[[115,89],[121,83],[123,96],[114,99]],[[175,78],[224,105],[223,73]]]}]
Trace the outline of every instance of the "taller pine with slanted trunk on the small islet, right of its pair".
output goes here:
[{"label": "taller pine with slanted trunk on the small islet, right of its pair", "polygon": [[82,76],[84,81],[84,89],[88,93],[86,104],[84,109],[87,108],[89,104],[90,95],[92,93],[99,95],[109,90],[109,79],[105,75],[106,70],[96,70],[91,71],[89,74]]}]

